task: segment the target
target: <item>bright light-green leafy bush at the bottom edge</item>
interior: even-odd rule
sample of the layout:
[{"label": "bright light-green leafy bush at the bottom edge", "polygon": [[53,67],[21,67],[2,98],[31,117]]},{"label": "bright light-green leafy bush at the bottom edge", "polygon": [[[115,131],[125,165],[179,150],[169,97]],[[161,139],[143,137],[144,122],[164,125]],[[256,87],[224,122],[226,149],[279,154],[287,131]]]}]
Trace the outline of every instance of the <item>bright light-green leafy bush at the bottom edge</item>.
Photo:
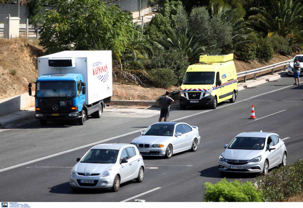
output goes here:
[{"label": "bright light-green leafy bush at the bottom edge", "polygon": [[239,183],[237,180],[228,182],[225,178],[220,182],[204,183],[204,201],[212,202],[262,202],[262,192],[247,181]]}]

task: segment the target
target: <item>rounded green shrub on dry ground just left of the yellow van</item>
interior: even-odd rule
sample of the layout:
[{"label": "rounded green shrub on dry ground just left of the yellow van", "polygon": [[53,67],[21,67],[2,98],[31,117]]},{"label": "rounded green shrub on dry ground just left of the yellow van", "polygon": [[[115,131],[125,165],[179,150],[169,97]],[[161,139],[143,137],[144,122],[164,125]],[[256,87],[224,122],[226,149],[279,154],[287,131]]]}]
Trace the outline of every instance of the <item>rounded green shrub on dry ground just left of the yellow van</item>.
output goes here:
[{"label": "rounded green shrub on dry ground just left of the yellow van", "polygon": [[148,79],[155,87],[168,88],[177,83],[178,78],[171,69],[159,68],[148,71]]}]

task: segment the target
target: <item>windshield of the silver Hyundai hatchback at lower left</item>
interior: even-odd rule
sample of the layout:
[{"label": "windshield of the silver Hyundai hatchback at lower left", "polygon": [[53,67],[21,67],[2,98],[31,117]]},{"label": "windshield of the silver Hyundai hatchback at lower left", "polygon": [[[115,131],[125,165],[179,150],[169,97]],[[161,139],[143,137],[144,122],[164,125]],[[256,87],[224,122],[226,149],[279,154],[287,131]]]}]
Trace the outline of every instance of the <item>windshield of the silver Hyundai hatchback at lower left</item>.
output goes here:
[{"label": "windshield of the silver Hyundai hatchback at lower left", "polygon": [[91,149],[81,163],[116,163],[119,150]]}]

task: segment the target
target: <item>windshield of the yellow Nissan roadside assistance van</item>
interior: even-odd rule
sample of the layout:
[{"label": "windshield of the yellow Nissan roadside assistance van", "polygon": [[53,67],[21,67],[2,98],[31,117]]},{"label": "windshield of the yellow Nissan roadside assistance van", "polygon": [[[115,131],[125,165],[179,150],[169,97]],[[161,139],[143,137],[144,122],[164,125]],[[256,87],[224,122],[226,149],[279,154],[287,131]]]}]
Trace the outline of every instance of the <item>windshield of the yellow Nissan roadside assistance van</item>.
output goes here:
[{"label": "windshield of the yellow Nissan roadside assistance van", "polygon": [[186,72],[183,84],[214,84],[215,72],[192,71]]}]

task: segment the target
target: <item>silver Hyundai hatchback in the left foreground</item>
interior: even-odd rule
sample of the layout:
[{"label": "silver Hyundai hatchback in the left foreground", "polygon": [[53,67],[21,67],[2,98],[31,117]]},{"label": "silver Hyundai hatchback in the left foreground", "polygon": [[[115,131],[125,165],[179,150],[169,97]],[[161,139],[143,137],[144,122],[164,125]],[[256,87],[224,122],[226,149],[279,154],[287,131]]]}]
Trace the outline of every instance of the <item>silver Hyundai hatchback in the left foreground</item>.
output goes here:
[{"label": "silver Hyundai hatchback in the left foreground", "polygon": [[120,184],[144,178],[144,162],[132,144],[99,144],[92,147],[72,168],[69,184],[77,189],[112,189]]}]

